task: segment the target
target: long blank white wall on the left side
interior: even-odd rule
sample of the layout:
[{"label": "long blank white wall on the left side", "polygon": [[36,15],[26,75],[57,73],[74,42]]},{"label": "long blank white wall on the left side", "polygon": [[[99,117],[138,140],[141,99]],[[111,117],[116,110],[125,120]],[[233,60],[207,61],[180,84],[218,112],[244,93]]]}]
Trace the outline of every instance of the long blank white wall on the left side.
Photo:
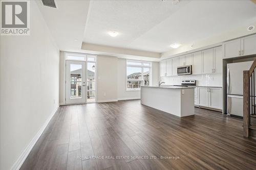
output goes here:
[{"label": "long blank white wall on the left side", "polygon": [[58,107],[59,50],[30,6],[30,36],[1,36],[1,169],[21,158]]}]

